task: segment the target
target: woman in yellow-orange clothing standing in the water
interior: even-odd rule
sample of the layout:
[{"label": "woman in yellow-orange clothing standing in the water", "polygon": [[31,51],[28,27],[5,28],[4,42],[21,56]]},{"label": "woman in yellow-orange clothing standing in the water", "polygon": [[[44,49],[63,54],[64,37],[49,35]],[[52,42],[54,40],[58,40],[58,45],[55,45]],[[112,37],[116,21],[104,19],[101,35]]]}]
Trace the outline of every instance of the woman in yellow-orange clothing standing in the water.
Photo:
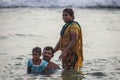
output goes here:
[{"label": "woman in yellow-orange clothing standing in the water", "polygon": [[63,10],[63,21],[66,23],[60,33],[60,39],[54,52],[61,50],[62,67],[65,70],[79,70],[83,63],[82,32],[80,25],[74,21],[72,9]]}]

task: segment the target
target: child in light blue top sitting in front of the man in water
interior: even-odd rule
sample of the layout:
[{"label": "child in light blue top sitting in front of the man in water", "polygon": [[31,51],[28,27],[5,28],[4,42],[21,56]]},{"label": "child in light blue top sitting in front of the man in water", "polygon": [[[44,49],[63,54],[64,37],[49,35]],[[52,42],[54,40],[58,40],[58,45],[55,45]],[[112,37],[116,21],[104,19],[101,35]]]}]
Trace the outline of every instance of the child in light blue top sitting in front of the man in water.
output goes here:
[{"label": "child in light blue top sitting in front of the man in water", "polygon": [[41,56],[41,48],[35,47],[32,50],[32,56],[33,58],[28,60],[27,64],[27,73],[34,73],[34,74],[40,74],[44,71],[44,69],[47,67],[48,62],[40,59]]}]

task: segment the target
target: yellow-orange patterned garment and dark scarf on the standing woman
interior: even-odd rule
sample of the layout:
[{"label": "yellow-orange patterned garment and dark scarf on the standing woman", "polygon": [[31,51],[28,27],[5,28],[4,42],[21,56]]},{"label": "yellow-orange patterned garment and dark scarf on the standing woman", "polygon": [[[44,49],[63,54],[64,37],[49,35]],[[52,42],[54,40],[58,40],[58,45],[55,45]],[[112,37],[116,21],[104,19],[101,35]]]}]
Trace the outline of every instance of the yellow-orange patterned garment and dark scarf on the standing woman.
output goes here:
[{"label": "yellow-orange patterned garment and dark scarf on the standing woman", "polygon": [[70,21],[63,26],[60,37],[60,50],[64,51],[64,49],[69,45],[71,41],[71,33],[77,33],[78,40],[75,46],[73,46],[69,53],[67,53],[65,60],[62,60],[62,66],[64,69],[79,70],[83,63],[83,48],[82,31],[77,22]]}]

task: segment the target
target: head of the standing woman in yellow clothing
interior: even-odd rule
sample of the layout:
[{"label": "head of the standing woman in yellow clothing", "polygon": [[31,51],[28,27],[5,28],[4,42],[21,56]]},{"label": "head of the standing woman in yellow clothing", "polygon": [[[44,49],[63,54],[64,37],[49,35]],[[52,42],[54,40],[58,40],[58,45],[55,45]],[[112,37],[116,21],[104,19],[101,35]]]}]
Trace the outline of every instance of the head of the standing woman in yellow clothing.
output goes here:
[{"label": "head of the standing woman in yellow clothing", "polygon": [[70,20],[73,20],[74,17],[74,11],[71,8],[66,8],[63,10],[63,20],[64,22],[68,22]]}]

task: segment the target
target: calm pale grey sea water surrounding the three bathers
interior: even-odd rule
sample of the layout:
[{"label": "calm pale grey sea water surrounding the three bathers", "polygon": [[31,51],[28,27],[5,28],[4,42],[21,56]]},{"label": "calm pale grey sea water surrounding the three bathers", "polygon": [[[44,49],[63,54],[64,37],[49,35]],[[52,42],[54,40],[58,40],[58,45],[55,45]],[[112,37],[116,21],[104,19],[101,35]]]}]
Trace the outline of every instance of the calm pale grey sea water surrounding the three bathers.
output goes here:
[{"label": "calm pale grey sea water surrounding the three bathers", "polygon": [[[21,0],[0,2],[4,1],[10,4],[10,1]],[[55,74],[26,74],[32,49],[36,46],[42,49],[45,46],[55,47],[58,42],[64,25],[64,8],[9,7],[0,8],[0,80],[119,80],[120,10],[72,8],[83,33],[84,65],[80,73],[63,72],[58,59],[61,52],[58,51],[51,60],[61,67]]]}]

